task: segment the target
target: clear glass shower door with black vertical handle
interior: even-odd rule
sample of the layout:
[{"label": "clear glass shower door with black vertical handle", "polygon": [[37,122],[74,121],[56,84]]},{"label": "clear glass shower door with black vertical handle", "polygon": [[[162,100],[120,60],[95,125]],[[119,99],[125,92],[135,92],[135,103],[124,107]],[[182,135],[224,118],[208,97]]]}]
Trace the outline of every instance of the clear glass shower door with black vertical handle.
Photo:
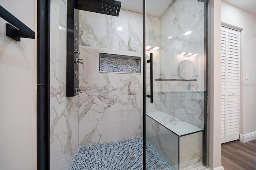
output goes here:
[{"label": "clear glass shower door with black vertical handle", "polygon": [[206,6],[146,0],[146,169],[206,165]]}]

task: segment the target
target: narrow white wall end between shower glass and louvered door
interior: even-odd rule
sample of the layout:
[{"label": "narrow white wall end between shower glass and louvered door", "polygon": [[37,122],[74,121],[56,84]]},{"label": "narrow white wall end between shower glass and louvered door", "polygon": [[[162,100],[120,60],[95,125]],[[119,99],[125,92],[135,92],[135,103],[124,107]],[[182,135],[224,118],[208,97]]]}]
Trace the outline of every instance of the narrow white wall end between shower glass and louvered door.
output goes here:
[{"label": "narrow white wall end between shower glass and louvered door", "polygon": [[209,167],[221,166],[221,0],[209,3],[209,53],[208,53],[208,147]]}]

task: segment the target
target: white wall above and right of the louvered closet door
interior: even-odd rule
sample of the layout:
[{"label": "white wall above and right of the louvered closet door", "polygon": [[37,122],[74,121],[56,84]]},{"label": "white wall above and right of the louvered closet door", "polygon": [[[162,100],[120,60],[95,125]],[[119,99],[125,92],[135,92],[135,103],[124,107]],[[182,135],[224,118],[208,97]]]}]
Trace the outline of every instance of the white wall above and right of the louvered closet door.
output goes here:
[{"label": "white wall above and right of the louvered closet door", "polygon": [[[250,140],[256,139],[256,16],[226,2],[222,2],[221,21],[224,25],[242,29],[240,53],[240,134],[248,136],[246,134],[252,135],[252,133],[255,133],[254,137],[250,138]],[[248,80],[246,80],[246,73],[249,73]],[[246,141],[248,140],[244,142]]]}]

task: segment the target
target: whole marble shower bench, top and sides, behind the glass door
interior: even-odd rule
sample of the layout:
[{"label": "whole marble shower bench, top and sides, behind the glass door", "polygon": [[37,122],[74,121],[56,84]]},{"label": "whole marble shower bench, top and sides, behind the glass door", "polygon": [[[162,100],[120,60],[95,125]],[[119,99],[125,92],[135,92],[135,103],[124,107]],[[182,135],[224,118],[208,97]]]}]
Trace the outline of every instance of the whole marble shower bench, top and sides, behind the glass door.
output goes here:
[{"label": "whole marble shower bench, top and sides, behind the glass door", "polygon": [[163,111],[146,113],[146,139],[172,170],[203,167],[203,129]]}]

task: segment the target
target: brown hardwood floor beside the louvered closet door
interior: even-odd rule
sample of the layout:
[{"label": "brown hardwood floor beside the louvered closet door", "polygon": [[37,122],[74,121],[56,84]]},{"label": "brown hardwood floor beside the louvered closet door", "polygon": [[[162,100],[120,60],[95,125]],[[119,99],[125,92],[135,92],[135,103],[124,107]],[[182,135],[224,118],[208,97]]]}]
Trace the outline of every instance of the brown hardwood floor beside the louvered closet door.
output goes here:
[{"label": "brown hardwood floor beside the louvered closet door", "polygon": [[221,151],[225,170],[256,170],[256,140],[247,143],[223,143]]}]

